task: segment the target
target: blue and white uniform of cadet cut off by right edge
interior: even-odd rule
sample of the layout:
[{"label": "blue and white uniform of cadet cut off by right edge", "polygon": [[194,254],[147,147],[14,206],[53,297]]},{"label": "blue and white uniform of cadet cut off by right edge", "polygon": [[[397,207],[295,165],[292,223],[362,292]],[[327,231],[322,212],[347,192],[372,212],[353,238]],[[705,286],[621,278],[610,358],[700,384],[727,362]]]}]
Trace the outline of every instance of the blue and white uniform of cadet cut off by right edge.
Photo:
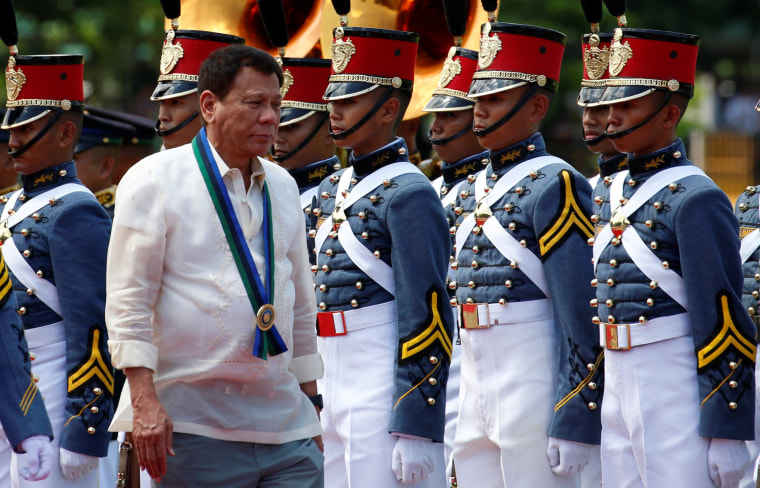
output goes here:
[{"label": "blue and white uniform of cadet cut off by right edge", "polygon": [[[739,219],[739,238],[741,238],[741,260],[744,271],[742,287],[742,304],[747,309],[755,326],[760,316],[760,186],[748,186],[736,199],[734,214]],[[747,466],[740,488],[755,488],[758,456],[760,455],[760,390],[755,363],[755,440],[747,441],[747,448],[752,456],[752,462]]]}]

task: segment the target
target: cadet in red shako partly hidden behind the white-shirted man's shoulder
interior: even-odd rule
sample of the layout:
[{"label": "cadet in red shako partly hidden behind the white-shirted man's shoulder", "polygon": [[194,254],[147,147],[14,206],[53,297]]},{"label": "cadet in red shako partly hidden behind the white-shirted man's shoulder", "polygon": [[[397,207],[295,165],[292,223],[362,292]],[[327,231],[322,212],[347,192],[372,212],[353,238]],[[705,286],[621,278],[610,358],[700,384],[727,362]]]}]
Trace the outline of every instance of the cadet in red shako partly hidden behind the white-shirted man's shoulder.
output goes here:
[{"label": "cadet in red shako partly hidden behind the white-shirted man's shoulder", "polygon": [[[328,127],[330,114],[322,100],[330,64],[329,59],[282,58],[285,81],[281,90],[280,127],[272,155],[298,184],[307,232],[319,183],[340,168]],[[314,242],[309,238],[311,264],[315,262],[313,251]]]}]

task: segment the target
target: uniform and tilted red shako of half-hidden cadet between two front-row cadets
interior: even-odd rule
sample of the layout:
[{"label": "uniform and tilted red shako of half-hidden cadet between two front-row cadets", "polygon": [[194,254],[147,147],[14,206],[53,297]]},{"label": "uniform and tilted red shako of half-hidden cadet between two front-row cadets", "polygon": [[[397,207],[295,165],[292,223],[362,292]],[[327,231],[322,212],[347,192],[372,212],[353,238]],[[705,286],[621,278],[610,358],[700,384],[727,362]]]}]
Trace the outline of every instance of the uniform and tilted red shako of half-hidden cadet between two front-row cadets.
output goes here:
[{"label": "uniform and tilted red shako of half-hidden cadet between two front-row cadets", "polygon": [[[453,112],[460,110],[472,110],[475,101],[467,97],[470,89],[472,75],[478,67],[478,53],[471,49],[452,47],[444,62],[438,86],[433,91],[430,101],[422,109],[423,112]],[[434,140],[430,136],[433,145],[450,144],[457,138],[472,131],[472,125],[460,132],[440,140]],[[459,161],[442,162],[442,175],[433,180],[433,188],[438,193],[451,233],[451,256],[454,260],[454,238],[456,235],[456,214],[454,214],[454,201],[456,200],[459,187],[470,175],[474,175],[484,165],[488,164],[488,152],[480,152],[465,157]],[[456,281],[456,271],[449,269],[446,285],[450,286]],[[450,298],[454,297],[454,289],[449,289]],[[456,313],[456,302],[454,302]],[[456,432],[457,417],[459,416],[459,373],[462,365],[461,342],[457,334],[451,354],[451,367],[449,368],[449,380],[446,384],[446,430],[444,438],[444,455],[447,463],[447,475],[451,476],[452,463],[451,453],[454,449],[454,433]]]}]

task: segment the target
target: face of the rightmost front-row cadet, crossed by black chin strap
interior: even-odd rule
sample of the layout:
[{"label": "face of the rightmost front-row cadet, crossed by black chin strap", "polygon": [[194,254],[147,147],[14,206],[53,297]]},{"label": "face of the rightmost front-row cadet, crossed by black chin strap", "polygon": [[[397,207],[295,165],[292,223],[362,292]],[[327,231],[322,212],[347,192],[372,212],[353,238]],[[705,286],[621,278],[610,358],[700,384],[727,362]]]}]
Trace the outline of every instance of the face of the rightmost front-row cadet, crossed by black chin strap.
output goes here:
[{"label": "face of the rightmost front-row cadet, crossed by black chin strap", "polygon": [[[655,92],[641,98],[610,105],[607,132],[622,132],[651,117],[662,103],[661,95]],[[630,134],[620,139],[613,139],[615,149],[621,153],[644,155],[667,146],[672,141],[670,131],[662,126],[664,118],[665,111],[661,110],[650,121]]]}]

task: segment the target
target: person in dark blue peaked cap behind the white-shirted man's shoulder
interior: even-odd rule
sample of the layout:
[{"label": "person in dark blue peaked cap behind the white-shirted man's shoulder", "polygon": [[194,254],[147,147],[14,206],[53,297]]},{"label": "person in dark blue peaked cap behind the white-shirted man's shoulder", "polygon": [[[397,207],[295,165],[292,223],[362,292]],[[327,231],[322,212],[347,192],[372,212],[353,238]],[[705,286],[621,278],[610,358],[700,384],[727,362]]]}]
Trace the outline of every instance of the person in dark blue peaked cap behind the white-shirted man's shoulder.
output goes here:
[{"label": "person in dark blue peaked cap behind the white-shirted man's shoulder", "polygon": [[95,194],[111,219],[116,201],[113,171],[124,134],[133,130],[121,122],[85,114],[82,133],[74,149],[77,177]]}]

